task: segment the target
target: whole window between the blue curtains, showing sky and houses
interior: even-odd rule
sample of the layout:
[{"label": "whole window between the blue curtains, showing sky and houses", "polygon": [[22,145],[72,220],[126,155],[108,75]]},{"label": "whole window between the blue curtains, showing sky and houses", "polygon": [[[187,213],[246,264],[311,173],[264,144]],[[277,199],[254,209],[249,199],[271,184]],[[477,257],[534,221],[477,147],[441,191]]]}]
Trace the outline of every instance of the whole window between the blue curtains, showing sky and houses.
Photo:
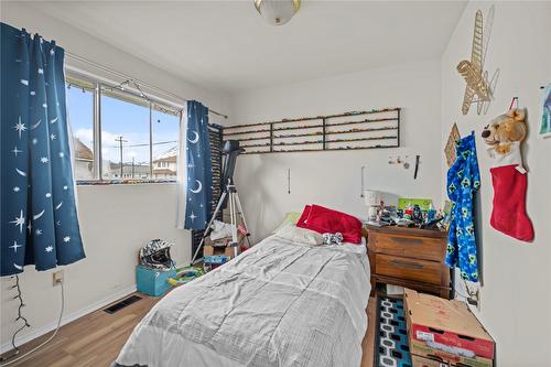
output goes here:
[{"label": "whole window between the blue curtains, showing sky and houses", "polygon": [[[77,180],[176,180],[179,111],[130,88],[71,75],[67,80]],[[95,98],[100,99],[96,118]],[[94,153],[96,130],[101,137],[101,147],[96,149],[101,154]]]}]

